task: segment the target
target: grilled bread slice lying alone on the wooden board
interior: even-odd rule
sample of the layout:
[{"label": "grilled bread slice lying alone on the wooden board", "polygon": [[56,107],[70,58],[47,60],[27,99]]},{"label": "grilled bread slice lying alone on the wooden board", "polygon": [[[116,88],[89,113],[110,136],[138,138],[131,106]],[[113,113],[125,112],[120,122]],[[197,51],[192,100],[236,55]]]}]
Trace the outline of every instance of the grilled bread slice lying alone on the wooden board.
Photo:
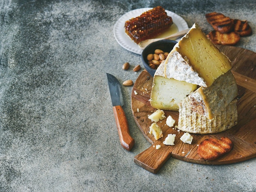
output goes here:
[{"label": "grilled bread slice lying alone on the wooden board", "polygon": [[200,143],[198,146],[198,154],[202,159],[211,161],[230,152],[232,147],[233,143],[227,137],[220,139],[209,138]]}]

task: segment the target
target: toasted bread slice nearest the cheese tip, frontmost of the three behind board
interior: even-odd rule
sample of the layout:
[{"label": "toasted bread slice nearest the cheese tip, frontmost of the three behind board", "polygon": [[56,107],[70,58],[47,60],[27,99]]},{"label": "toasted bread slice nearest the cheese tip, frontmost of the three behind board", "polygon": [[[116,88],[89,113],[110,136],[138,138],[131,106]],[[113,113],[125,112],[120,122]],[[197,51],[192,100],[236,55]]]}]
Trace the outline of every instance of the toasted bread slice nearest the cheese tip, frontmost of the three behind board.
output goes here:
[{"label": "toasted bread slice nearest the cheese tip, frontmost of the three behind board", "polygon": [[240,40],[240,35],[234,31],[230,33],[220,33],[219,31],[211,31],[207,37],[218,45],[236,45]]}]

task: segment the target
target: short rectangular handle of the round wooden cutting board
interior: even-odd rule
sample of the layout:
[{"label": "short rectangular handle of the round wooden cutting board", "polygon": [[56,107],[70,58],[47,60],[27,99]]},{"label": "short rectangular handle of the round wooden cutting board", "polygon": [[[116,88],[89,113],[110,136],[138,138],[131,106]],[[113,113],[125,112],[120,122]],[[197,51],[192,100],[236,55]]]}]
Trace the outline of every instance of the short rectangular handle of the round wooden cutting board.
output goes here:
[{"label": "short rectangular handle of the round wooden cutting board", "polygon": [[[157,150],[156,145],[161,145]],[[155,142],[147,150],[134,157],[134,162],[152,173],[157,173],[160,168],[171,158],[170,146]]]}]

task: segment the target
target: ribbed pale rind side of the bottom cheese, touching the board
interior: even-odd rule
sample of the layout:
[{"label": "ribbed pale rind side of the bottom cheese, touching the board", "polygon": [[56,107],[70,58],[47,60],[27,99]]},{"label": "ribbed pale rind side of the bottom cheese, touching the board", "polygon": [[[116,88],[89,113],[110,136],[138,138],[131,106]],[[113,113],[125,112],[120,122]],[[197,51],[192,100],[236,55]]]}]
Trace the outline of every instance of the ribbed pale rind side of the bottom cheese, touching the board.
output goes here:
[{"label": "ribbed pale rind side of the bottom cheese, touching the board", "polygon": [[233,100],[212,119],[208,119],[191,111],[191,105],[186,98],[180,103],[178,129],[195,134],[213,134],[226,131],[237,124],[237,100]]}]

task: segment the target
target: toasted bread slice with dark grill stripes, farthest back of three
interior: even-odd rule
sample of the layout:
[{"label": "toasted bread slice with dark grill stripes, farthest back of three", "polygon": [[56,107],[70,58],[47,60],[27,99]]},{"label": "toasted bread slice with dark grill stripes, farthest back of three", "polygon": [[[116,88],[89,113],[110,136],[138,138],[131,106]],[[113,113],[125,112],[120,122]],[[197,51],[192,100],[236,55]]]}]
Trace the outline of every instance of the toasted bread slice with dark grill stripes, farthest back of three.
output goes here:
[{"label": "toasted bread slice with dark grill stripes, farthest back of three", "polygon": [[222,13],[207,13],[205,14],[205,17],[215,31],[219,31],[220,33],[229,33],[234,29],[233,20]]}]

